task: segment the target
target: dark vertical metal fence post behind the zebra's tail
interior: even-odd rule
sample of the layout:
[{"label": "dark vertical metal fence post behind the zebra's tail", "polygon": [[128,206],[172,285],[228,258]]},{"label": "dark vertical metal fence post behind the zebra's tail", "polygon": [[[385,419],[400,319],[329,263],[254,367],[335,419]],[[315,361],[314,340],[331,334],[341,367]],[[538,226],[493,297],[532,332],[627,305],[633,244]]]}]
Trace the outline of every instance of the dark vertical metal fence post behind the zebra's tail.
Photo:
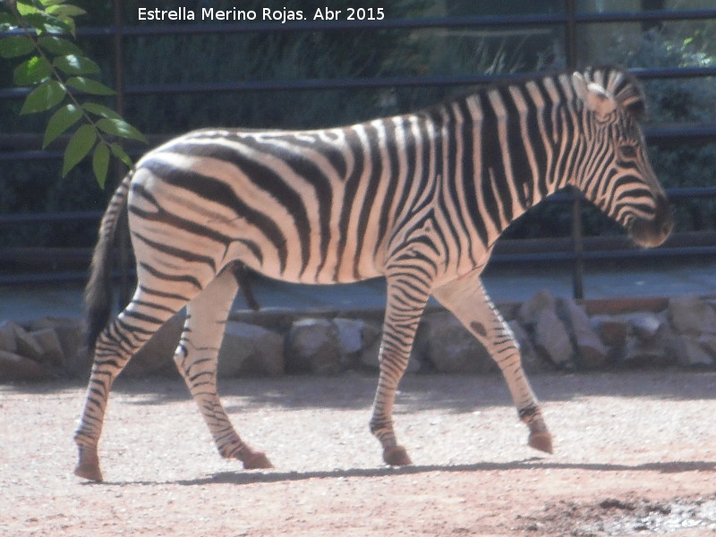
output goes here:
[{"label": "dark vertical metal fence post behind the zebra's tail", "polygon": [[[124,72],[123,72],[123,55],[124,40],[122,38],[122,0],[113,1],[113,45],[115,49],[115,107],[119,115],[124,116]],[[115,176],[117,183],[122,180],[126,168],[124,164],[117,159],[115,165]],[[119,309],[123,310],[124,306],[130,300],[130,282],[129,282],[129,229],[127,227],[126,218],[120,219],[120,225],[117,229],[117,243],[119,247]]]}]

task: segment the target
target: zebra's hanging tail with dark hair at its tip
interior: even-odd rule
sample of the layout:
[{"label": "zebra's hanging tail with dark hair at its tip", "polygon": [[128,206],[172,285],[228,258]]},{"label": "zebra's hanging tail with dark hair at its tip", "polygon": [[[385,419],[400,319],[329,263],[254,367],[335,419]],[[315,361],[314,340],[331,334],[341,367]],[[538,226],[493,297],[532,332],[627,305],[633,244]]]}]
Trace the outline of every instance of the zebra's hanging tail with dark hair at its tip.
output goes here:
[{"label": "zebra's hanging tail with dark hair at its tip", "polygon": [[107,326],[112,313],[112,260],[117,222],[121,219],[127,203],[127,193],[132,183],[134,169],[124,176],[122,183],[109,201],[109,206],[99,225],[99,238],[92,254],[90,279],[84,290],[85,344],[90,353],[97,338]]}]

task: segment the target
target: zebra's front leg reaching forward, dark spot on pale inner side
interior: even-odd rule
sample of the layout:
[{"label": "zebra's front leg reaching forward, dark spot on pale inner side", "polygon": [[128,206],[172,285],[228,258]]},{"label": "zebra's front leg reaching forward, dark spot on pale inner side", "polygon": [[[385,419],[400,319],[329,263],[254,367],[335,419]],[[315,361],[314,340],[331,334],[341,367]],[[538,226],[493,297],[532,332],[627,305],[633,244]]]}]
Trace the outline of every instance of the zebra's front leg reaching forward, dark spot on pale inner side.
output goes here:
[{"label": "zebra's front leg reaching forward, dark spot on pale inner side", "polygon": [[433,296],[452,311],[484,345],[507,381],[517,415],[530,429],[530,447],[552,453],[552,437],[540,405],[522,368],[519,345],[512,330],[485,292],[480,271],[433,290]]}]

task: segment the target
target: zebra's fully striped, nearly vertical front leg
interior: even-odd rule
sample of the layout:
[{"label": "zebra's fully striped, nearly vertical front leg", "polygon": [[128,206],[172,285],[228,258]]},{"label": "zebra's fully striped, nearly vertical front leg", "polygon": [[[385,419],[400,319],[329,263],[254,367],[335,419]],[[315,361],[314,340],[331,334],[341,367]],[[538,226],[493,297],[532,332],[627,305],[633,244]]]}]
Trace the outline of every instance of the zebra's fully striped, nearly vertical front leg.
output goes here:
[{"label": "zebra's fully striped, nearly vertical front leg", "polygon": [[410,359],[415,330],[430,296],[428,284],[415,277],[388,277],[388,303],[380,342],[380,376],[371,417],[371,432],[383,447],[388,465],[410,465],[405,447],[398,445],[393,429],[393,406],[400,379]]}]

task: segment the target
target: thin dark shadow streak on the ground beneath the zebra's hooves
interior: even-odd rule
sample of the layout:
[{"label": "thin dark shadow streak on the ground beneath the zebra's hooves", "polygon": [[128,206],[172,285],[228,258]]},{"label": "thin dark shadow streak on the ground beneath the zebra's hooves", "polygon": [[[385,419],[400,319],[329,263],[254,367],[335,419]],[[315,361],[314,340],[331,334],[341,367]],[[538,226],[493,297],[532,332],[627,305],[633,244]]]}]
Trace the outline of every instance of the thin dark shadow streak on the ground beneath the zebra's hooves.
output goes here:
[{"label": "thin dark shadow streak on the ground beneath the zebra's hooves", "polygon": [[176,480],[168,482],[103,482],[104,485],[124,486],[138,485],[183,485],[187,487],[208,484],[248,485],[251,483],[300,482],[310,479],[341,479],[348,477],[388,477],[391,475],[414,475],[420,473],[442,472],[494,472],[505,470],[587,470],[593,472],[713,472],[716,473],[716,462],[707,461],[666,461],[644,463],[643,465],[590,464],[590,463],[550,463],[541,457],[507,462],[507,463],[475,463],[470,465],[409,465],[400,467],[376,466],[374,468],[347,468],[335,470],[281,472],[281,471],[236,471],[218,472],[192,480]]}]

